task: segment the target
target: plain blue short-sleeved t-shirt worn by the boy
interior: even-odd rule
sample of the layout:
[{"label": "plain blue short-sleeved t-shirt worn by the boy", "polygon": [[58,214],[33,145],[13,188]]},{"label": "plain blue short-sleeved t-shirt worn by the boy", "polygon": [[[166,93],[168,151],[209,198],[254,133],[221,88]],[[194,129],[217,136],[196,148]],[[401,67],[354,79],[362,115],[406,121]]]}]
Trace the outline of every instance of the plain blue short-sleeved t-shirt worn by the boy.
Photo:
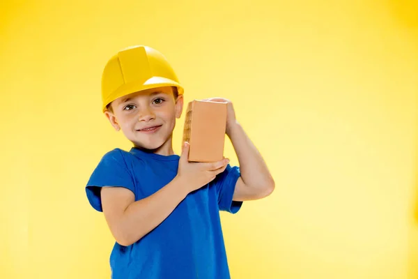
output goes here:
[{"label": "plain blue short-sleeved t-shirt worn by the boy", "polygon": [[[87,183],[91,206],[102,211],[102,186],[124,187],[135,201],[167,185],[177,174],[180,156],[163,156],[132,148],[106,153]],[[239,167],[226,170],[189,193],[155,229],[130,246],[115,243],[110,255],[113,279],[226,279],[229,266],[219,211],[236,213],[232,200]]]}]

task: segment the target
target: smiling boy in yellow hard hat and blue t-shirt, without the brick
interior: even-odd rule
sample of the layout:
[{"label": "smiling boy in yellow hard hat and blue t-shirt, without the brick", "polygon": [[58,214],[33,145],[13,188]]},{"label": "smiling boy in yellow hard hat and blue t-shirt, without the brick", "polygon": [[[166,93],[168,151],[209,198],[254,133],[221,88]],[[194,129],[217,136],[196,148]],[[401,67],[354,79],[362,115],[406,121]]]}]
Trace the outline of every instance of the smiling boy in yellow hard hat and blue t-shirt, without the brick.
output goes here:
[{"label": "smiling boy in yellow hard hat and blue t-shirt, without the brick", "polygon": [[134,144],[106,153],[86,185],[88,200],[102,211],[116,243],[114,279],[230,278],[219,211],[236,213],[242,202],[272,193],[263,159],[235,119],[228,102],[226,135],[240,167],[229,160],[190,163],[172,148],[183,111],[183,87],[157,50],[128,47],[102,75],[102,111]]}]

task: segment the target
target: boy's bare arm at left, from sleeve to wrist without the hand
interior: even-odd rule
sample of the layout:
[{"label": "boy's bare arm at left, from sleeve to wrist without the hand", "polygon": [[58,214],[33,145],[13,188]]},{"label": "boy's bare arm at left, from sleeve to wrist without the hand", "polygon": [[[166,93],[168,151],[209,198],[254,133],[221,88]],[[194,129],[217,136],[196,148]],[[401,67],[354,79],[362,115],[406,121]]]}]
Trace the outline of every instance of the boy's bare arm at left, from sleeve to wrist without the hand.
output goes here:
[{"label": "boy's bare arm at left, from sleeve to wrist without the hand", "polygon": [[159,191],[134,202],[134,193],[122,187],[103,187],[104,218],[122,246],[130,246],[160,225],[187,196],[177,177]]}]

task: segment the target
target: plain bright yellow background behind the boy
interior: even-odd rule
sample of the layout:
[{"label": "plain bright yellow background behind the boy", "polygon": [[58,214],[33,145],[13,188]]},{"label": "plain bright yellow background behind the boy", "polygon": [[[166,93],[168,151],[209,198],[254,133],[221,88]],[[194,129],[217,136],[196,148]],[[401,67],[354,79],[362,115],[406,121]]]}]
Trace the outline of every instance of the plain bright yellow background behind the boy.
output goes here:
[{"label": "plain bright yellow background behind the boy", "polygon": [[0,10],[0,278],[109,278],[114,241],[84,186],[130,149],[100,113],[100,75],[137,44],[167,56],[186,102],[233,100],[274,176],[273,195],[222,213],[232,278],[418,278],[417,1]]}]

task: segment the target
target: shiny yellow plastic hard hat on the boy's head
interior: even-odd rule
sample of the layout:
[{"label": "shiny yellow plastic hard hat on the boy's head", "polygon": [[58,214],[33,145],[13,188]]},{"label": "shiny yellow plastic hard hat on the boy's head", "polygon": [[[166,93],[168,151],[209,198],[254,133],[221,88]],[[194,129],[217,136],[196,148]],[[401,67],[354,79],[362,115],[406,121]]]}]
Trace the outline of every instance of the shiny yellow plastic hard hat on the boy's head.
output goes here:
[{"label": "shiny yellow plastic hard hat on the boy's head", "polygon": [[130,93],[160,86],[183,86],[167,59],[145,45],[127,47],[107,61],[102,73],[102,111],[112,101]]}]

